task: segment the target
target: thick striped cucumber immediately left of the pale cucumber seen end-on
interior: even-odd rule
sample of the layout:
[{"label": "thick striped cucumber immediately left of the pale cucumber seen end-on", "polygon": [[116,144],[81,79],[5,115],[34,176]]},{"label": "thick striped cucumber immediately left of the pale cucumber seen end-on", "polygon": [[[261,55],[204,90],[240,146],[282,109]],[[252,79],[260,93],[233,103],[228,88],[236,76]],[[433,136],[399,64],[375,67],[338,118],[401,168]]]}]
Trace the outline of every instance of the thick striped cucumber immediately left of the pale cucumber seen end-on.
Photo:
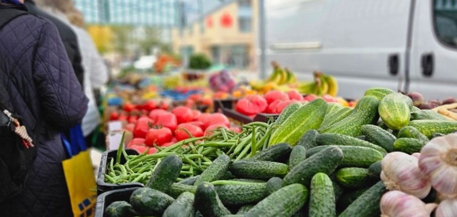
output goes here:
[{"label": "thick striped cucumber immediately left of the pale cucumber seen end-on", "polygon": [[360,136],[360,128],[365,124],[374,124],[379,119],[379,100],[373,96],[365,96],[360,99],[357,106],[346,118],[338,121],[320,133],[336,133],[348,136]]}]

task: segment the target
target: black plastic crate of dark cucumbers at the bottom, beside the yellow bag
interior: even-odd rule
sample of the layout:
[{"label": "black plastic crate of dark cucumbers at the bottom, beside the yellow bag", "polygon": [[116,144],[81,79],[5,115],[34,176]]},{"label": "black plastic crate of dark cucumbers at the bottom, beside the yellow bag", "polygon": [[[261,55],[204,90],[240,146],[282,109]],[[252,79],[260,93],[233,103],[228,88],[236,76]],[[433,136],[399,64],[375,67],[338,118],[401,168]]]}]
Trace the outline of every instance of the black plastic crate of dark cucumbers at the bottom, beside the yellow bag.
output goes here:
[{"label": "black plastic crate of dark cucumbers at the bottom, beside the yellow bag", "polygon": [[95,217],[105,217],[105,209],[113,202],[125,201],[130,203],[130,196],[136,189],[138,189],[138,187],[118,189],[100,194],[97,197]]}]

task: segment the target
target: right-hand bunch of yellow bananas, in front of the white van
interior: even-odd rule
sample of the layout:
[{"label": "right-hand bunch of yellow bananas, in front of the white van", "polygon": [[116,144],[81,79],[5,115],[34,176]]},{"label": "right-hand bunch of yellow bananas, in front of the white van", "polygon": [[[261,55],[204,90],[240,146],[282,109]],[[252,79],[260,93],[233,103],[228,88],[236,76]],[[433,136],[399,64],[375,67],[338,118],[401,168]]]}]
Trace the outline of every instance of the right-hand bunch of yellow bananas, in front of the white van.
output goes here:
[{"label": "right-hand bunch of yellow bananas, in front of the white van", "polygon": [[335,77],[322,72],[314,72],[314,80],[301,83],[297,90],[303,94],[322,96],[328,94],[336,97],[338,94],[338,82]]}]

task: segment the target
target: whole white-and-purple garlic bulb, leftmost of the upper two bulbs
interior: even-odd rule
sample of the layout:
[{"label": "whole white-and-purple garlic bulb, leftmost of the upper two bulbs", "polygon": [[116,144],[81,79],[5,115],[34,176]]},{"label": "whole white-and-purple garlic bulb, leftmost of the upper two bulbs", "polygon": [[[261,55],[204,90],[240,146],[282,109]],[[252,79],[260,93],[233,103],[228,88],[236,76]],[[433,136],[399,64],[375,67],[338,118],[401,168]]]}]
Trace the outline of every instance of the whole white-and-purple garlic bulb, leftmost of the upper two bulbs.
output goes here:
[{"label": "whole white-and-purple garlic bulb, leftmost of the upper two bulbs", "polygon": [[403,152],[391,152],[382,159],[381,180],[388,190],[400,190],[420,199],[432,188],[418,167],[418,159]]}]

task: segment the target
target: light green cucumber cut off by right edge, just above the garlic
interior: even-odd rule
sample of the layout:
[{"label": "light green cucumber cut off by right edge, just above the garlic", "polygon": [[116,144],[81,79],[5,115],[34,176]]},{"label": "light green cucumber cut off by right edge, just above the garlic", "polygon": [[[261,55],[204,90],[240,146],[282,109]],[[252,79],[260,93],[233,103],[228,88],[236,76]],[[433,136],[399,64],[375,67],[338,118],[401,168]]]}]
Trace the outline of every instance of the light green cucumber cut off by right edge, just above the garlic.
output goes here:
[{"label": "light green cucumber cut off by right edge, just above the garlic", "polygon": [[416,127],[427,138],[434,133],[450,134],[457,130],[457,121],[452,120],[412,120],[409,126]]}]

